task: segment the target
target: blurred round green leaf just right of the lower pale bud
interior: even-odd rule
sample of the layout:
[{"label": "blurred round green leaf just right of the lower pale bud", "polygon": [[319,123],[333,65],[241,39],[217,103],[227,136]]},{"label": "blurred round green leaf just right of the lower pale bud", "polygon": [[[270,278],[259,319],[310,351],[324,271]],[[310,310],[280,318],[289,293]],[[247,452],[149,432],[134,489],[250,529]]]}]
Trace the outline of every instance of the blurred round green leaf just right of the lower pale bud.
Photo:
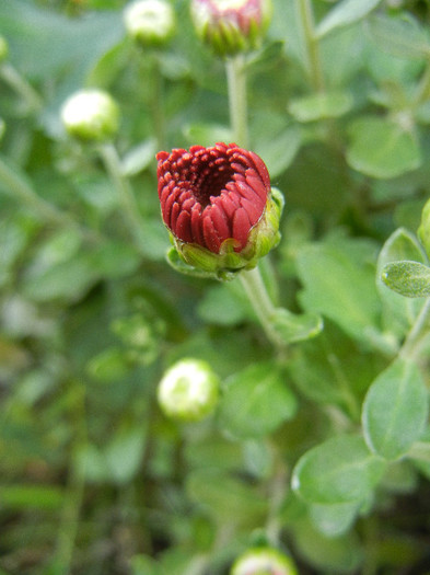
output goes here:
[{"label": "blurred round green leaf just right of the lower pale bud", "polygon": [[295,414],[295,396],[272,364],[249,366],[225,383],[219,422],[235,437],[263,437]]}]

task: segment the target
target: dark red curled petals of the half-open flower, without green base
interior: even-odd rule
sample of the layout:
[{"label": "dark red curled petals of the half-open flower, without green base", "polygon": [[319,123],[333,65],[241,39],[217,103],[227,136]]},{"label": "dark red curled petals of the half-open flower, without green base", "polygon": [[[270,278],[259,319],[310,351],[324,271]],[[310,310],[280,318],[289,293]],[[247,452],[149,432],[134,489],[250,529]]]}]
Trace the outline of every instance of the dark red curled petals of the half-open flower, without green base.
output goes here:
[{"label": "dark red curled petals of the half-open flower, without green base", "polygon": [[161,211],[173,235],[214,254],[226,240],[235,252],[244,250],[270,197],[263,160],[221,142],[159,152],[156,159]]}]

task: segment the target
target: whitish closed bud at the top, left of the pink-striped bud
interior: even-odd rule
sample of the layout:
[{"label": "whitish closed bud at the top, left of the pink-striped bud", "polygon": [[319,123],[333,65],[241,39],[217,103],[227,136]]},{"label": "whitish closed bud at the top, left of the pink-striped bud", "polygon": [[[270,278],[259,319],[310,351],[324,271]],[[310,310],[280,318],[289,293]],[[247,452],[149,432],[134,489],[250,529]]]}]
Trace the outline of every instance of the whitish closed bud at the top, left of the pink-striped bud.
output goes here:
[{"label": "whitish closed bud at the top, left of the pink-striped bud", "polygon": [[164,0],[137,0],[124,12],[128,34],[143,46],[162,46],[175,31],[175,13]]}]

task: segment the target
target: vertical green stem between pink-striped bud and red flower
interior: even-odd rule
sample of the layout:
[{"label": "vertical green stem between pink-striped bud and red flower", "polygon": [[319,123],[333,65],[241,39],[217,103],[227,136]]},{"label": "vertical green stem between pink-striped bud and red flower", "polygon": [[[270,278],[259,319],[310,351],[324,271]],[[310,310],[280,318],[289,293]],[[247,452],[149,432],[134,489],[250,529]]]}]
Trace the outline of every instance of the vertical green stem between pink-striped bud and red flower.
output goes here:
[{"label": "vertical green stem between pink-striped bud and red flower", "polygon": [[233,140],[237,146],[248,147],[246,66],[243,54],[225,60],[229,88],[230,123]]}]

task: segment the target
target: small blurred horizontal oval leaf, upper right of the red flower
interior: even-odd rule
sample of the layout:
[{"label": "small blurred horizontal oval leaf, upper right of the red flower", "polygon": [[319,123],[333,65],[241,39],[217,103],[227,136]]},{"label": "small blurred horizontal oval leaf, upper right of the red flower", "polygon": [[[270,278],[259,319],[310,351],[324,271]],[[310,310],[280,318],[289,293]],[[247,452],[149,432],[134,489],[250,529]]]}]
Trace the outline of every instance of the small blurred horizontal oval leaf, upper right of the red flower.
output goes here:
[{"label": "small blurred horizontal oval leaf, upper right of the red flower", "polygon": [[299,122],[315,122],[342,116],[352,104],[348,92],[324,92],[292,100],[288,111]]}]

